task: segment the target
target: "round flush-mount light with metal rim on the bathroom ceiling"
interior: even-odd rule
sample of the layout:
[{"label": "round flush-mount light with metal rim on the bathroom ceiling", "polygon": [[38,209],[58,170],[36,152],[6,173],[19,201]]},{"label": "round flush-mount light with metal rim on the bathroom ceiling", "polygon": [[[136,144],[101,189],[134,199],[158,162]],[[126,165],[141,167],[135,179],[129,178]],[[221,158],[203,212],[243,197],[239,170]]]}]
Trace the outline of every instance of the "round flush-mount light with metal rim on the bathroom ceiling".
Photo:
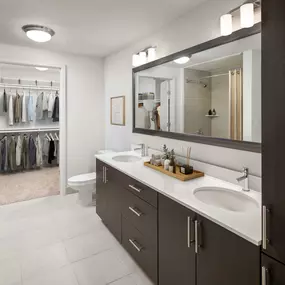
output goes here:
[{"label": "round flush-mount light with metal rim on the bathroom ceiling", "polygon": [[44,43],[51,40],[55,32],[47,27],[39,25],[26,25],[22,27],[27,37],[35,42]]}]

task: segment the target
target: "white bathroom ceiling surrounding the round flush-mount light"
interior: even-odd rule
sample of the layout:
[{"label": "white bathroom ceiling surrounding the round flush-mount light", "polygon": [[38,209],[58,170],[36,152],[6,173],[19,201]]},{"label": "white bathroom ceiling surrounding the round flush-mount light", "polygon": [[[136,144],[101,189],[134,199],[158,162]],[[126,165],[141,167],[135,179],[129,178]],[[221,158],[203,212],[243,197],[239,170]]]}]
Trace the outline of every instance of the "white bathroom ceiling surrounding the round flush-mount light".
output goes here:
[{"label": "white bathroom ceiling surrounding the round flush-mount light", "polygon": [[[2,0],[0,42],[92,56],[112,52],[153,34],[206,0]],[[26,24],[56,34],[34,43]]]}]

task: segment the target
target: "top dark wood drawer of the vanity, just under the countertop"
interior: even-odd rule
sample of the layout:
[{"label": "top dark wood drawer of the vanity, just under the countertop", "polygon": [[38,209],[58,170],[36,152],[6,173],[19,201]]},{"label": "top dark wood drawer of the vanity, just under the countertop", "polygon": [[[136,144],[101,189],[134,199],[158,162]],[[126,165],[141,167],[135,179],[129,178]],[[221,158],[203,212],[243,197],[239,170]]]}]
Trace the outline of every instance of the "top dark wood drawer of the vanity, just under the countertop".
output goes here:
[{"label": "top dark wood drawer of the vanity, just under the countertop", "polygon": [[128,177],[127,180],[124,179],[123,181],[125,183],[126,189],[157,208],[157,192],[155,190],[147,187],[146,185],[138,182],[131,177]]}]

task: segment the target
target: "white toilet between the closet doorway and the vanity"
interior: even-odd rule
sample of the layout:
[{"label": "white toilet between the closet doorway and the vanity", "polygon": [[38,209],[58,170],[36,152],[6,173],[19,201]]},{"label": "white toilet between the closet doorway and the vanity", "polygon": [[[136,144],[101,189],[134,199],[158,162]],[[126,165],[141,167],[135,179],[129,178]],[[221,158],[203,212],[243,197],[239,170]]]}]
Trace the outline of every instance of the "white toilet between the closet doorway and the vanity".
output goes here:
[{"label": "white toilet between the closet doorway and the vanity", "polygon": [[[99,154],[112,152],[100,150]],[[68,179],[68,186],[78,191],[78,202],[82,206],[90,206],[93,202],[93,193],[96,192],[96,172],[72,176]]]}]

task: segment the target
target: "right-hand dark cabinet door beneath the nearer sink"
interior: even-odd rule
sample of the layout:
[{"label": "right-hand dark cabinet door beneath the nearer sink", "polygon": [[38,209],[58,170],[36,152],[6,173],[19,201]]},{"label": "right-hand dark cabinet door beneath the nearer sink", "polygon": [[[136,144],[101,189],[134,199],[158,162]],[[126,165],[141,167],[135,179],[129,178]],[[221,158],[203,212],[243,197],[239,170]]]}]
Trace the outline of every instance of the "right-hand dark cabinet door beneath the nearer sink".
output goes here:
[{"label": "right-hand dark cabinet door beneath the nearer sink", "polygon": [[259,246],[201,216],[195,228],[197,285],[260,284]]}]

